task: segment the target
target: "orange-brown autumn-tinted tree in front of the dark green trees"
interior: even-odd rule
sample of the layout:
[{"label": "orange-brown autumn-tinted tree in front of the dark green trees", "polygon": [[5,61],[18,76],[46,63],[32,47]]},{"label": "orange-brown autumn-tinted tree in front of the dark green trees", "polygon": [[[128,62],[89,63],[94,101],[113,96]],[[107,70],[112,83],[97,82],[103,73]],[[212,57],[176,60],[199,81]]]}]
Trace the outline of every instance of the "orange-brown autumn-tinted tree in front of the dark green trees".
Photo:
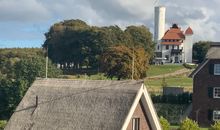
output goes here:
[{"label": "orange-brown autumn-tinted tree in front of the dark green trees", "polygon": [[[134,59],[133,59],[134,58]],[[107,50],[101,60],[102,71],[107,77],[120,79],[131,78],[132,60],[134,60],[134,79],[144,78],[148,68],[148,55],[143,48],[115,46]]]}]

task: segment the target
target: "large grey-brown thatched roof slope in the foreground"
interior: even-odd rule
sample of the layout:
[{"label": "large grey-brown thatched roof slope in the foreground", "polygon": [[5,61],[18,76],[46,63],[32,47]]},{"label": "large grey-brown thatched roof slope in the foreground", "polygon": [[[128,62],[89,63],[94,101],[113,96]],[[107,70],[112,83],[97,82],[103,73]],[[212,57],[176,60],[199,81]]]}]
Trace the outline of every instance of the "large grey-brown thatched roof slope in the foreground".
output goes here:
[{"label": "large grey-brown thatched roof slope in the foreground", "polygon": [[38,79],[5,130],[119,130],[141,85],[140,81]]}]

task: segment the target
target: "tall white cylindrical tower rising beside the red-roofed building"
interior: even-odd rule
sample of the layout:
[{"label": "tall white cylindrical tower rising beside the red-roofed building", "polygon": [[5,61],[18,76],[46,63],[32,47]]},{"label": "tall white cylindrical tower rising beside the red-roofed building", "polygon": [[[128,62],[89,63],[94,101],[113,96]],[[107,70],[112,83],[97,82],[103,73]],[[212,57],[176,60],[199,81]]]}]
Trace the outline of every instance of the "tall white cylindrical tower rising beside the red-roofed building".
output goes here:
[{"label": "tall white cylindrical tower rising beside the red-roofed building", "polygon": [[161,52],[161,39],[165,33],[165,12],[164,6],[156,6],[154,8],[154,42],[156,43],[156,52]]}]

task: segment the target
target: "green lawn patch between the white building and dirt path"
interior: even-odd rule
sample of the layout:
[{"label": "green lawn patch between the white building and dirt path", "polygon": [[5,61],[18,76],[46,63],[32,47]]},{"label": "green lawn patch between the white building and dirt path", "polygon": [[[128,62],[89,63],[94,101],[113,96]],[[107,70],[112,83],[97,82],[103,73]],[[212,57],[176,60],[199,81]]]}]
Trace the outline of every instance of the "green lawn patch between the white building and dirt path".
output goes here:
[{"label": "green lawn patch between the white building and dirt path", "polygon": [[163,75],[172,73],[177,70],[183,69],[183,65],[169,64],[169,65],[150,65],[147,76]]}]

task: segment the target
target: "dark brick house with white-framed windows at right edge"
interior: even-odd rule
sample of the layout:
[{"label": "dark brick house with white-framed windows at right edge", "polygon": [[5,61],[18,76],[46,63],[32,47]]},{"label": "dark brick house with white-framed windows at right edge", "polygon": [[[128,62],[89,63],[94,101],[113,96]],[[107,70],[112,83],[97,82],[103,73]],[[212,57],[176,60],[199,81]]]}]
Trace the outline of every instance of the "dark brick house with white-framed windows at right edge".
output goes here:
[{"label": "dark brick house with white-framed windows at right edge", "polygon": [[220,43],[211,46],[206,60],[190,75],[193,78],[191,117],[200,126],[220,120]]}]

